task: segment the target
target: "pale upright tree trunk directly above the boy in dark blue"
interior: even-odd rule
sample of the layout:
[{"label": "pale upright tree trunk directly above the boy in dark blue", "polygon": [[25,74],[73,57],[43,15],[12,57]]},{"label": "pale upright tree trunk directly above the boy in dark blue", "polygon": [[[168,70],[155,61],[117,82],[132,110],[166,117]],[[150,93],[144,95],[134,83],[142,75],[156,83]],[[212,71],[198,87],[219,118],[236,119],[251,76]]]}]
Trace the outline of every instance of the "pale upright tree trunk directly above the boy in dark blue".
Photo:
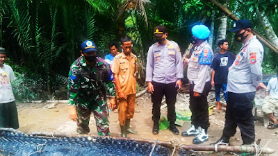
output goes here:
[{"label": "pale upright tree trunk directly above the boy in dark blue", "polygon": [[[224,6],[228,7],[229,0],[224,0],[223,3],[224,3]],[[220,24],[218,27],[218,33],[216,36],[214,53],[219,53],[220,47],[218,46],[218,42],[220,40],[226,39],[226,32],[227,32],[227,16],[224,15],[224,13],[222,13],[221,17],[220,17]]]}]

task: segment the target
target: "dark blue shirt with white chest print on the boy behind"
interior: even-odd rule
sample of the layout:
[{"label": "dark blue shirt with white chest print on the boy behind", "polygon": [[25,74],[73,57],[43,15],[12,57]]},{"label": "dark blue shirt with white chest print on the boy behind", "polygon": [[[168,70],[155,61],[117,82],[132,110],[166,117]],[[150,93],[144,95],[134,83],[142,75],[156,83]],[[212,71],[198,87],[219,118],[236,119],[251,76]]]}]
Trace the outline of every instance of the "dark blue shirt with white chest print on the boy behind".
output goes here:
[{"label": "dark blue shirt with white chest print on the boy behind", "polygon": [[215,70],[214,83],[215,85],[227,84],[227,76],[229,67],[234,63],[234,53],[227,51],[227,53],[218,53],[213,58],[211,68]]}]

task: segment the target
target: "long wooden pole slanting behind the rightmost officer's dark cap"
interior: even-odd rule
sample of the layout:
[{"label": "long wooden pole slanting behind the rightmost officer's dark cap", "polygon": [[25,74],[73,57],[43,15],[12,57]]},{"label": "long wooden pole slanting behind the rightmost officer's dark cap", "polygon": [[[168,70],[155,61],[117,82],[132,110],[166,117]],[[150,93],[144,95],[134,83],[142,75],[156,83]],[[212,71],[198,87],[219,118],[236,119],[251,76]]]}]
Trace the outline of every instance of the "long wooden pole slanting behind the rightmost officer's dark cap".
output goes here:
[{"label": "long wooden pole slanting behind the rightmost officer's dark cap", "polygon": [[[224,14],[227,15],[230,19],[232,19],[233,21],[238,21],[239,18],[236,15],[234,15],[234,13],[232,13],[229,9],[227,9],[225,6],[223,6],[221,3],[219,3],[216,0],[208,0],[208,1],[211,1],[212,3],[214,3],[215,6],[217,6],[219,8],[219,10],[224,12]],[[265,39],[265,37],[263,37],[261,34],[257,33],[255,30],[253,30],[253,33],[254,33],[254,35],[256,35],[258,40],[260,40],[261,42],[263,42],[263,44],[265,44],[265,46],[268,46],[268,48],[270,48],[272,51],[274,51],[275,53],[278,53],[278,48],[277,48],[277,46],[275,46],[275,44],[272,44],[270,41]]]}]

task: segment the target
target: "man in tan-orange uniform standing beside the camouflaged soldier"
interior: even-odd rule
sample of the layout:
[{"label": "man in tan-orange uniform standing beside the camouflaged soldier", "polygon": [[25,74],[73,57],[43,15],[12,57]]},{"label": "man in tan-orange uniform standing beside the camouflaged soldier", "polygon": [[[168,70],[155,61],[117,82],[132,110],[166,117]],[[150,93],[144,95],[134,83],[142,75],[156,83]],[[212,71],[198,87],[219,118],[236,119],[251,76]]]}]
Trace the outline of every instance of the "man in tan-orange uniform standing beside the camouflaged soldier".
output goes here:
[{"label": "man in tan-orange uniform standing beside the camouflaged soldier", "polygon": [[126,132],[137,134],[130,128],[136,99],[137,57],[131,53],[132,42],[130,37],[122,37],[121,44],[123,52],[115,56],[112,72],[117,98],[119,99],[119,121],[122,137],[126,137]]}]

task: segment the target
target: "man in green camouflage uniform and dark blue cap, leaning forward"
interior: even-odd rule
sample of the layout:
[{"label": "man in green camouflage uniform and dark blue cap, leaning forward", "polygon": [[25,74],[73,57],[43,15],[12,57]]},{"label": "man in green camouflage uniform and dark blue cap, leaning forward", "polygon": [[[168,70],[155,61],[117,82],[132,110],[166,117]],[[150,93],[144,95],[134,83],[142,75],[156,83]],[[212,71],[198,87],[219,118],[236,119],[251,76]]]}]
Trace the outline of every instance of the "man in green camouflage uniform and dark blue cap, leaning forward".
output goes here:
[{"label": "man in green camouflage uniform and dark blue cap, leaning forward", "polygon": [[98,135],[110,135],[106,91],[111,100],[115,100],[115,86],[109,80],[109,65],[96,54],[95,43],[86,40],[81,44],[81,56],[70,67],[70,119],[76,121],[78,133],[88,134],[90,114],[93,112]]}]

